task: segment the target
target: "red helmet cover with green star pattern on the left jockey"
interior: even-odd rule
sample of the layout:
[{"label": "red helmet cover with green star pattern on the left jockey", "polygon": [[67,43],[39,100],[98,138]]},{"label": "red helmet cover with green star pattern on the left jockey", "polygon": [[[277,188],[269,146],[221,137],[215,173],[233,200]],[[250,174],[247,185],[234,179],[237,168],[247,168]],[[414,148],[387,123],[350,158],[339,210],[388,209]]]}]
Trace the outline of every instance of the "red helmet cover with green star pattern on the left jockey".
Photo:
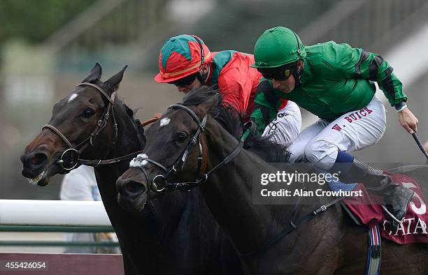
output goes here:
[{"label": "red helmet cover with green star pattern on the left jockey", "polygon": [[[182,34],[166,40],[159,54],[160,72],[155,76],[156,82],[173,82],[199,71],[202,56],[197,38]],[[204,47],[204,61],[207,61],[211,52],[201,38],[199,41]]]}]

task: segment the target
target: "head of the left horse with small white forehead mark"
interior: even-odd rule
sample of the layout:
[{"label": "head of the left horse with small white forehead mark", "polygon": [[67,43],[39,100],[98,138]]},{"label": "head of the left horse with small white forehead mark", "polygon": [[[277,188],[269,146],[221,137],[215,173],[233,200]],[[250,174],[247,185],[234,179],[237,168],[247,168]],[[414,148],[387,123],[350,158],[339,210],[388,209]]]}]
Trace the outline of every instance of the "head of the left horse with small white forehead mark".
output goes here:
[{"label": "head of the left horse with small white forehead mark", "polygon": [[117,137],[112,95],[126,68],[101,82],[97,63],[74,91],[55,103],[48,124],[20,157],[22,175],[31,184],[45,186],[53,175],[76,168],[80,154],[100,159],[108,154],[105,144]]}]

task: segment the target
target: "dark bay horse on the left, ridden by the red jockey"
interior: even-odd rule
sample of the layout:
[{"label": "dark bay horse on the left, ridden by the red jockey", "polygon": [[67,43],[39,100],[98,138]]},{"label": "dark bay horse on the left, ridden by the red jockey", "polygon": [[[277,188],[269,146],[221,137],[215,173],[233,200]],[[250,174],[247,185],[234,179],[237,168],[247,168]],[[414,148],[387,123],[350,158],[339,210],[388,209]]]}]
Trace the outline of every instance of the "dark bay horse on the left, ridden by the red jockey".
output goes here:
[{"label": "dark bay horse on the left, ridden by the red jockey", "polygon": [[[102,124],[102,116],[110,103],[108,98],[117,89],[123,73],[124,69],[101,82],[101,66],[94,66],[83,83],[96,85],[106,95],[91,85],[78,86],[55,104],[49,125],[64,135],[73,147],[85,142],[94,133],[94,128]],[[133,112],[117,98],[113,102],[114,111],[108,114],[106,125],[92,141],[87,140],[82,145],[89,144],[81,151],[81,158],[108,160],[126,156],[145,146],[143,128],[138,120],[134,121]],[[40,186],[47,185],[55,174],[66,172],[58,161],[71,146],[59,133],[43,127],[21,156],[22,175],[36,178],[33,181]],[[101,198],[122,248],[125,274],[242,274],[235,249],[208,211],[198,190],[187,194],[169,193],[148,203],[138,214],[124,211],[117,204],[115,181],[129,168],[133,156],[95,167]],[[76,163],[73,156],[63,160]],[[97,165],[97,161],[93,163]]]}]

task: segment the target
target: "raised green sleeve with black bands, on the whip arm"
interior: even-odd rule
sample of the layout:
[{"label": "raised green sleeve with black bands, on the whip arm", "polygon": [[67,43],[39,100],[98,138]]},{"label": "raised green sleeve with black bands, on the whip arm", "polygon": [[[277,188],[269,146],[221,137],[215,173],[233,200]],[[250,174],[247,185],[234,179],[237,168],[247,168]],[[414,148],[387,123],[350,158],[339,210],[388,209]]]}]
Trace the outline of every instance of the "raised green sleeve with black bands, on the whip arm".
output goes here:
[{"label": "raised green sleeve with black bands, on the whip arm", "polygon": [[352,48],[348,44],[336,44],[337,69],[347,78],[362,78],[378,82],[379,88],[387,97],[390,104],[407,101],[406,94],[403,93],[403,85],[387,63],[378,54],[366,52],[362,49]]}]

